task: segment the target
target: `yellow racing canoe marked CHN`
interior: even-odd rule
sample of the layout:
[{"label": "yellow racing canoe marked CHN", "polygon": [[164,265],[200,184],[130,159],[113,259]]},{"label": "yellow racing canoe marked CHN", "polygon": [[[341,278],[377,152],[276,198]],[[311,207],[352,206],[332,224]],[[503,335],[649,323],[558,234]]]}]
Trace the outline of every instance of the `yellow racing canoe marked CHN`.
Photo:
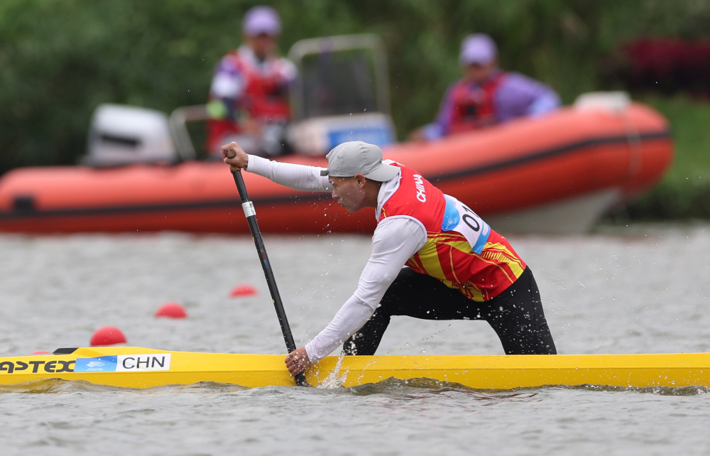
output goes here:
[{"label": "yellow racing canoe marked CHN", "polygon": [[[283,354],[170,352],[141,347],[58,349],[0,357],[0,385],[45,379],[150,388],[214,381],[247,387],[290,386]],[[565,355],[383,355],[326,357],[312,386],[357,386],[386,379],[433,379],[475,389],[546,385],[710,387],[710,353]]]}]

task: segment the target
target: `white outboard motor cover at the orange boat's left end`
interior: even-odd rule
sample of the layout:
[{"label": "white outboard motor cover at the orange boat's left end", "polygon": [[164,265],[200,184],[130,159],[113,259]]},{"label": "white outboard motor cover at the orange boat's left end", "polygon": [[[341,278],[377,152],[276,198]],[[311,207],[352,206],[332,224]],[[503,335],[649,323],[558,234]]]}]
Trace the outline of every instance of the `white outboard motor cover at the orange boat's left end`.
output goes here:
[{"label": "white outboard motor cover at the orange boat's left end", "polygon": [[84,164],[107,167],[177,160],[165,113],[120,104],[101,104],[94,111]]}]

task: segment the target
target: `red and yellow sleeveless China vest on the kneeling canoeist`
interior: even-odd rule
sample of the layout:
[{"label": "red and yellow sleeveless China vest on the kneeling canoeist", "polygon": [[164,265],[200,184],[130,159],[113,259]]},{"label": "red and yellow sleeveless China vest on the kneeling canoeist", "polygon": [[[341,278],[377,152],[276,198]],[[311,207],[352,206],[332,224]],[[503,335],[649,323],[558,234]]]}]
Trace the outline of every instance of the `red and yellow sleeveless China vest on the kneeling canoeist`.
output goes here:
[{"label": "red and yellow sleeveless China vest on the kneeling canoeist", "polygon": [[407,261],[407,266],[439,279],[449,288],[457,288],[474,301],[495,298],[520,277],[525,261],[506,238],[490,229],[467,207],[475,217],[475,221],[470,218],[469,227],[474,225],[479,230],[475,239],[466,238],[461,233],[464,230],[444,229],[447,224],[444,217],[454,209],[447,204],[453,205],[456,200],[444,195],[415,170],[400,163],[391,164],[402,169],[402,177],[399,188],[384,203],[378,222],[386,217],[409,217],[427,230],[426,243]]}]

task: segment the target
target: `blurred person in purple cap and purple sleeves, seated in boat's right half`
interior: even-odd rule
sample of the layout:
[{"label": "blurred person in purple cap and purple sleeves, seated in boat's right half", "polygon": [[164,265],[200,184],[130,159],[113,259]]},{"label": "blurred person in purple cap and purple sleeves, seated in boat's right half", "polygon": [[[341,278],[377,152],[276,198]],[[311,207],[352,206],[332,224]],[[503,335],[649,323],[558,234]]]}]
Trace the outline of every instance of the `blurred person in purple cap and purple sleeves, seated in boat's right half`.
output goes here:
[{"label": "blurred person in purple cap and purple sleeves, seated in boat's right half", "polygon": [[447,89],[435,121],[413,131],[410,139],[438,139],[516,117],[539,116],[560,105],[559,95],[547,85],[501,70],[496,43],[484,33],[464,38],[459,63],[464,77]]}]

